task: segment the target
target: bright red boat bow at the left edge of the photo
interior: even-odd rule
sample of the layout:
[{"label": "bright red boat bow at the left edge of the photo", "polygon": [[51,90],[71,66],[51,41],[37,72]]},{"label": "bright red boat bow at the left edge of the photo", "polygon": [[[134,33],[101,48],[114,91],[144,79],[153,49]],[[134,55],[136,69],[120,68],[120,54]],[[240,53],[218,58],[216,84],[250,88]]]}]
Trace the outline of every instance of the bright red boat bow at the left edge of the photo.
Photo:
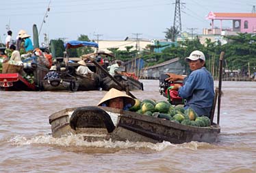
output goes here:
[{"label": "bright red boat bow at the left edge of the photo", "polygon": [[18,72],[0,74],[0,88],[4,91],[35,91],[35,83],[29,83]]}]

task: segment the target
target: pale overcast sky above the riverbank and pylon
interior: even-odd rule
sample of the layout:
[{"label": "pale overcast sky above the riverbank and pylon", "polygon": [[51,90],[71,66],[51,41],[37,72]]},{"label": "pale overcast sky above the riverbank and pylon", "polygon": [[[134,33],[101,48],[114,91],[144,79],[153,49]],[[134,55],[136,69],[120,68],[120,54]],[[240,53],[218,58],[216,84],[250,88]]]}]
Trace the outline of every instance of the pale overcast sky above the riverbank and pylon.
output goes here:
[{"label": "pale overcast sky above the riverbank and pylon", "polygon": [[[205,16],[212,12],[252,12],[255,0],[183,0],[181,1],[182,30],[202,34],[209,28]],[[47,7],[50,11],[47,12]],[[173,25],[175,0],[1,0],[0,42],[10,27],[13,38],[20,29],[32,35],[36,24],[49,39],[77,40],[81,34],[90,40],[124,40],[136,38],[164,38],[166,28]],[[47,12],[45,23],[42,21]],[[228,23],[225,25],[229,25]],[[223,25],[223,27],[225,27]]]}]

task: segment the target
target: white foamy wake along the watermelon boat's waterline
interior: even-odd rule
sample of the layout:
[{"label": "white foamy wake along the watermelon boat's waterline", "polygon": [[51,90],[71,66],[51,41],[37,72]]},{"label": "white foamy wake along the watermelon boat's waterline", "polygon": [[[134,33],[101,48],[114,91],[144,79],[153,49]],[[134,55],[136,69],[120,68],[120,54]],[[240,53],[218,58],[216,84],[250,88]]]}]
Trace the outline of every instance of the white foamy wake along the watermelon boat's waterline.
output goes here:
[{"label": "white foamy wake along the watermelon boat's waterline", "polygon": [[149,149],[161,151],[168,147],[176,147],[176,144],[171,144],[170,142],[161,142],[153,144],[151,142],[121,142],[103,140],[88,142],[84,140],[82,135],[66,135],[64,137],[54,138],[51,135],[37,135],[36,137],[24,137],[17,135],[12,137],[8,142],[12,145],[51,145],[51,146],[64,146],[64,147],[83,147],[83,148],[112,148],[112,149]]}]

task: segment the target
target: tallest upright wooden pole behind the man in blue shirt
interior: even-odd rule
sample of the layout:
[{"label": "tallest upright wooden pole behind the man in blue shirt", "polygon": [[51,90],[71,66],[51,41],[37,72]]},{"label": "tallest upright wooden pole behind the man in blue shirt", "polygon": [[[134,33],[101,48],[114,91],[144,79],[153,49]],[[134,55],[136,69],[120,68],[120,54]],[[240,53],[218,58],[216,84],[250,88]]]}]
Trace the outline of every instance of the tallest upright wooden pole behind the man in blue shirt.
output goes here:
[{"label": "tallest upright wooden pole behind the man in blue shirt", "polygon": [[222,67],[223,67],[223,59],[224,59],[224,52],[220,53],[220,73],[218,77],[218,117],[217,117],[217,124],[220,124],[220,101],[221,101],[221,87],[222,87]]}]

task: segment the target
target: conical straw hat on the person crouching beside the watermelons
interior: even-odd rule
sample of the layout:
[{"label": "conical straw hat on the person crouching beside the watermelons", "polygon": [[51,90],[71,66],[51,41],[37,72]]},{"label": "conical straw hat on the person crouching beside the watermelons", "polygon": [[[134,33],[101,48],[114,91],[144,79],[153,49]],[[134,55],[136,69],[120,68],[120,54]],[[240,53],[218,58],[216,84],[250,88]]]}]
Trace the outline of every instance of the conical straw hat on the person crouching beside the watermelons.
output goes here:
[{"label": "conical straw hat on the person crouching beside the watermelons", "polygon": [[97,106],[100,106],[102,103],[105,103],[112,98],[118,97],[123,97],[125,105],[130,103],[131,106],[133,106],[135,104],[135,101],[133,98],[131,98],[131,96],[128,96],[127,94],[116,90],[116,88],[111,88],[110,91],[108,91],[107,94],[105,94],[105,96],[101,99]]}]

